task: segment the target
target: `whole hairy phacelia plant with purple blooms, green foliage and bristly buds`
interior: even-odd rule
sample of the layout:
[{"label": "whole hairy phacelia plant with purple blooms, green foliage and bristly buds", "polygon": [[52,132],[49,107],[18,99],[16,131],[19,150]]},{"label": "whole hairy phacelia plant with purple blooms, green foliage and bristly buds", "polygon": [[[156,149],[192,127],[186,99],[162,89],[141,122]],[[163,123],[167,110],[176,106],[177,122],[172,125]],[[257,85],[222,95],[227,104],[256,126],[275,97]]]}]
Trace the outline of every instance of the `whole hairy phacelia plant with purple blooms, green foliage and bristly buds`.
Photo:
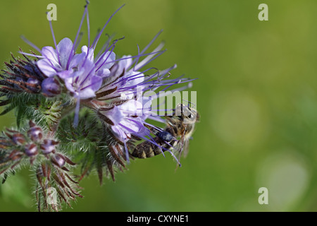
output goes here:
[{"label": "whole hairy phacelia plant with purple blooms, green foliage and bristly buds", "polygon": [[[173,93],[192,84],[189,78],[171,78],[170,71],[176,65],[164,70],[148,66],[166,51],[163,43],[149,51],[162,31],[143,49],[138,46],[137,54],[125,53],[120,57],[115,53],[120,38],[108,37],[101,49],[97,49],[97,44],[106,25],[123,6],[108,18],[90,42],[87,5],[74,40],[64,37],[56,42],[49,21],[54,45],[40,49],[25,39],[38,53],[20,49],[25,59],[13,57],[13,61],[6,63],[7,70],[0,79],[0,106],[7,106],[0,114],[16,107],[18,128],[26,124],[25,119],[35,121],[18,131],[8,130],[0,138],[0,175],[15,169],[20,161],[30,162],[36,168],[36,194],[42,191],[43,197],[46,196],[44,191],[49,189],[46,183],[51,183],[61,189],[59,198],[66,203],[66,196],[80,196],[73,188],[77,182],[66,173],[69,165],[75,165],[66,157],[68,151],[79,156],[82,169],[79,180],[97,169],[102,182],[104,172],[114,180],[114,172],[125,169],[125,163],[137,157],[133,154],[137,143],[155,149],[156,154],[168,150],[173,155],[172,150],[182,148],[178,144],[185,143],[187,128],[190,134],[186,134],[186,143],[193,131],[193,127],[180,125],[181,117],[175,125],[173,117],[155,113],[175,112],[161,109],[166,106],[165,98],[161,101],[161,97],[168,93],[160,91]],[[88,42],[81,44],[85,19]],[[174,128],[182,133],[176,134]]]}]

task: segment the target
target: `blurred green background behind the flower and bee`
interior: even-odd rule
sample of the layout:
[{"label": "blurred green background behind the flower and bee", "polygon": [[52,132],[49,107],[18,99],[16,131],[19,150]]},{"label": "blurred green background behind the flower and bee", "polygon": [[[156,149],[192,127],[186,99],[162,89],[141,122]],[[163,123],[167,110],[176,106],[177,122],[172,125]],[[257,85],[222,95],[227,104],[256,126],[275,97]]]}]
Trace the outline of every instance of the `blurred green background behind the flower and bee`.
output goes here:
[{"label": "blurred green background behind the flower and bee", "polygon": [[[85,1],[1,1],[1,62],[30,49],[20,35],[54,45],[49,3],[57,41],[75,38]],[[106,28],[125,36],[116,54],[137,54],[163,29],[168,51],[153,65],[199,78],[201,121],[178,170],[161,155],[132,161],[114,183],[99,186],[92,174],[80,184],[85,198],[64,210],[316,211],[317,1],[91,0],[92,37],[123,3]],[[261,3],[268,21],[258,19]],[[12,114],[0,118],[1,129],[12,125]],[[0,185],[0,211],[35,211],[32,186],[29,169]],[[260,187],[268,205],[258,203]]]}]

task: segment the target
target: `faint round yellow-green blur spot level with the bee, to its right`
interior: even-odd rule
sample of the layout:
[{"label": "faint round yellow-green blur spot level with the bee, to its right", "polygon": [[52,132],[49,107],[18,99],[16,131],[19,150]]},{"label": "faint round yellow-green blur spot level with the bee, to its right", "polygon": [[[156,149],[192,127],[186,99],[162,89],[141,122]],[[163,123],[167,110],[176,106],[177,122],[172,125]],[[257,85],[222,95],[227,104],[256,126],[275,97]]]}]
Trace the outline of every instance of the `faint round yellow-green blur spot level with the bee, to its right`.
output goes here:
[{"label": "faint round yellow-green blur spot level with the bee, to its right", "polygon": [[252,147],[265,137],[261,104],[244,90],[216,94],[211,102],[211,126],[230,145]]}]

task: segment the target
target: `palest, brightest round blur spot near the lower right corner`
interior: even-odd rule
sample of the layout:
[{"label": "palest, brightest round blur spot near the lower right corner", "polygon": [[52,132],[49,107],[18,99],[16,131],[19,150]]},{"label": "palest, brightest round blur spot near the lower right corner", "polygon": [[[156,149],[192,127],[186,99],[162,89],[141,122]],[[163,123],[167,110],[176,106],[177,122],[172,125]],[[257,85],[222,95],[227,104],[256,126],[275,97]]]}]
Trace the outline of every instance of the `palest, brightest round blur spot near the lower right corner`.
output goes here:
[{"label": "palest, brightest round blur spot near the lower right corner", "polygon": [[299,153],[283,150],[263,160],[257,174],[258,186],[268,189],[268,205],[273,211],[296,207],[309,186],[309,167]]}]

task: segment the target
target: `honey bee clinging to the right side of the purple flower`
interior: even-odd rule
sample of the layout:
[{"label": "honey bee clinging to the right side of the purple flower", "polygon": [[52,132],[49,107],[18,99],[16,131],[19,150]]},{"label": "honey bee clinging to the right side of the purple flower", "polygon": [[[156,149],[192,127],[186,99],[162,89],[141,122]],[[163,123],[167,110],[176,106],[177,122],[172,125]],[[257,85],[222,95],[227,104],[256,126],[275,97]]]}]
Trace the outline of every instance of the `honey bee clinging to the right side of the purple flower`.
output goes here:
[{"label": "honey bee clinging to the right side of the purple flower", "polygon": [[197,110],[178,104],[173,109],[173,115],[165,117],[166,128],[159,131],[152,127],[151,131],[154,130],[156,136],[149,141],[139,143],[132,152],[133,157],[153,157],[168,150],[179,163],[182,153],[187,155],[189,138],[192,137],[195,123],[199,121]]}]

